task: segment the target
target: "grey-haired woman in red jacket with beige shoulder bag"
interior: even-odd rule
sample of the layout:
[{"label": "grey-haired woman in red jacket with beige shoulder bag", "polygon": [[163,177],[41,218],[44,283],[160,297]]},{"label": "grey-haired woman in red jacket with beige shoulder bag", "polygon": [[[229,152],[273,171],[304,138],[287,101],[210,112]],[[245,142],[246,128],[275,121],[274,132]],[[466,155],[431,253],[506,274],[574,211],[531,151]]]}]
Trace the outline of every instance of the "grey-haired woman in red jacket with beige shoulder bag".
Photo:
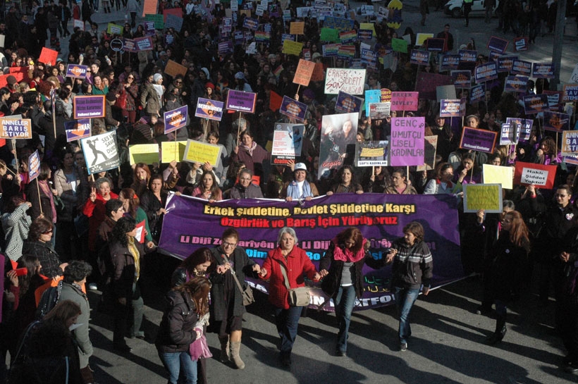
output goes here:
[{"label": "grey-haired woman in red jacket with beige shoulder bag", "polygon": [[275,322],[281,337],[279,360],[283,366],[291,365],[291,349],[297,337],[302,307],[289,305],[288,290],[281,268],[285,269],[291,289],[305,286],[303,275],[307,275],[311,280],[320,278],[309,256],[303,249],[295,246],[297,241],[293,228],[281,228],[278,236],[279,246],[269,252],[259,272],[262,279],[269,279],[269,302],[276,306]]}]

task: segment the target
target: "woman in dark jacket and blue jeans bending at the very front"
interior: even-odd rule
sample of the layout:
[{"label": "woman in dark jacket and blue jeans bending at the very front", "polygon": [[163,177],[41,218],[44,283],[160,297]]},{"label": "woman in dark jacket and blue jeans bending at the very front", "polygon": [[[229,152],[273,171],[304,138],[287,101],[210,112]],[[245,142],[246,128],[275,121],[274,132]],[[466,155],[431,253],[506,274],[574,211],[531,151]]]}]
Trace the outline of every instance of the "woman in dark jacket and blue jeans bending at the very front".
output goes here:
[{"label": "woman in dark jacket and blue jeans bending at the very front", "polygon": [[156,350],[169,373],[168,383],[176,384],[183,368],[187,383],[197,383],[197,361],[192,360],[190,345],[203,335],[203,326],[209,320],[209,290],[211,283],[195,277],[166,294]]}]

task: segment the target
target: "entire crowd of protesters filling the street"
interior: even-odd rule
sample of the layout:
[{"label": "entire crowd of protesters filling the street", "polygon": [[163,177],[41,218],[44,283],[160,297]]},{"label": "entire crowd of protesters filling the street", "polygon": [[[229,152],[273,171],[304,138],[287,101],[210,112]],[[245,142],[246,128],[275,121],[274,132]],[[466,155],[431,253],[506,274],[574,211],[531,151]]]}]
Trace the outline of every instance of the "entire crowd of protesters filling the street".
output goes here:
[{"label": "entire crowd of protesters filling the street", "polygon": [[[506,118],[534,120],[528,139],[516,147],[497,146],[492,154],[460,149],[462,119],[443,118],[439,116],[436,101],[420,99],[417,111],[406,116],[424,116],[425,135],[438,137],[431,170],[355,167],[354,156],[343,151],[339,154],[343,166],[321,172],[320,151],[326,136],[333,135],[332,140],[344,143],[349,137],[355,137],[358,142],[387,140],[391,135],[391,116],[371,119],[362,112],[359,121],[349,121],[343,128],[321,129],[324,116],[336,113],[335,96],[324,94],[322,80],[312,81],[307,87],[297,87],[293,83],[300,57],[281,53],[283,35],[288,34],[289,25],[288,20],[281,17],[281,4],[272,4],[273,8],[258,17],[259,23],[271,25],[271,38],[269,44],[260,44],[257,52],[251,55],[245,53],[247,42],[242,41],[234,45],[232,52],[219,51],[218,43],[224,36],[219,27],[226,17],[222,4],[207,8],[192,0],[187,4],[161,1],[159,13],[168,8],[182,9],[183,27],[180,31],[170,27],[151,34],[144,25],[135,22],[141,6],[135,0],[102,1],[100,9],[104,13],[111,12],[111,7],[115,6],[126,9],[127,16],[130,13],[130,21],[125,18],[122,36],[110,35],[92,22],[91,14],[99,9],[98,1],[83,0],[70,8],[71,5],[66,1],[60,4],[45,1],[44,6],[39,6],[32,1],[30,12],[20,12],[12,6],[0,22],[0,32],[5,35],[4,49],[0,50],[4,72],[1,79],[5,82],[4,87],[0,87],[0,112],[3,116],[18,115],[32,122],[32,139],[5,140],[0,147],[1,249],[6,256],[7,271],[1,337],[3,357],[7,351],[11,357],[16,356],[18,345],[22,344],[17,336],[23,332],[36,335],[30,337],[29,345],[61,336],[63,344],[55,346],[60,348],[55,353],[70,356],[70,348],[78,349],[80,359],[77,357],[78,361],[74,363],[78,371],[73,372],[73,377],[80,377],[78,382],[82,383],[94,382],[88,365],[92,354],[92,345],[87,340],[88,320],[78,321],[77,318],[87,316],[86,291],[97,287],[103,291],[103,307],[114,316],[113,347],[118,352],[130,352],[125,337],[144,337],[139,283],[141,264],[149,254],[154,254],[159,242],[169,192],[199,197],[209,203],[262,197],[293,202],[324,194],[367,192],[455,194],[459,199],[464,185],[483,181],[481,166],[484,163],[507,167],[524,161],[555,165],[557,187],[545,190],[535,185],[517,185],[513,190],[504,190],[503,215],[460,211],[462,263],[465,273],[483,276],[484,302],[479,313],[488,313],[491,305],[496,304],[498,323],[496,332],[488,338],[491,344],[504,337],[506,304],[517,299],[521,288],[531,283],[532,267],[536,266],[539,273],[534,274],[539,275],[541,304],[551,305],[552,296],[556,301],[558,330],[569,352],[563,367],[567,371],[578,371],[578,290],[574,289],[578,275],[578,268],[574,266],[578,259],[576,167],[563,161],[557,134],[541,129],[540,116],[524,114],[522,101],[524,95],[547,91],[547,80],[530,80],[523,93],[503,92],[505,73],[500,73],[497,80],[486,84],[485,100],[476,103],[470,102],[467,89],[457,89],[458,97],[462,98],[463,125],[500,132]],[[295,20],[295,4],[290,6],[290,13]],[[257,18],[254,13],[252,15]],[[234,30],[243,30],[245,17],[243,13],[235,19]],[[85,30],[77,26],[70,33],[70,18],[82,20]],[[349,68],[348,59],[326,58],[321,54],[323,42],[319,41],[319,36],[323,21],[317,18],[302,20],[305,21],[305,33],[301,58],[307,53],[307,58],[321,63],[324,70]],[[357,20],[354,25],[359,29]],[[507,30],[506,24],[503,28]],[[449,30],[446,25],[444,32],[438,34],[446,40],[445,51],[457,48],[453,47]],[[386,20],[376,20],[375,32],[374,49],[385,55],[398,32],[388,27]],[[59,57],[52,66],[39,62],[40,51],[47,42],[59,50],[59,34],[61,38],[69,39],[68,56]],[[412,35],[410,28],[404,35],[407,34]],[[147,35],[152,39],[152,50],[130,54],[111,49],[111,40],[115,37],[134,39]],[[230,39],[230,36],[226,38]],[[465,48],[475,49],[474,42],[460,47]],[[359,44],[357,50],[359,56]],[[417,89],[416,79],[420,72],[439,72],[439,56],[432,55],[428,66],[418,67],[410,64],[408,54],[389,51],[389,55],[393,59],[384,61],[387,66],[367,69],[364,89],[413,91]],[[169,61],[183,66],[185,75],[168,75],[165,70]],[[479,54],[478,64],[486,61],[488,57]],[[67,77],[66,66],[70,64],[88,66],[86,78]],[[240,113],[225,111],[221,121],[192,116],[199,97],[223,101],[230,89],[256,93],[254,113],[240,116]],[[51,98],[53,92],[55,98]],[[272,166],[271,152],[266,149],[266,143],[273,137],[273,123],[290,122],[278,113],[278,108],[271,108],[275,105],[271,100],[275,94],[299,99],[307,105],[302,122],[305,125],[302,153],[286,166]],[[121,159],[118,168],[91,176],[82,149],[76,142],[67,142],[64,128],[67,121],[73,120],[75,97],[85,95],[104,95],[106,113],[104,118],[92,119],[92,135],[116,130],[116,147]],[[163,113],[185,105],[190,111],[187,126],[166,134]],[[575,111],[563,107],[570,114],[570,121],[575,122]],[[357,127],[357,132],[352,127]],[[219,144],[219,163],[211,166],[209,163],[173,161],[130,165],[129,145],[187,139]],[[28,159],[36,150],[42,154],[42,165],[39,177],[30,182]],[[137,223],[142,221],[145,223],[144,240],[138,242],[135,240]],[[405,240],[395,243],[387,261],[393,262],[394,273],[403,268],[406,271],[407,268],[422,268],[423,292],[427,294],[431,254],[422,241],[423,228],[420,230],[413,225],[405,232]],[[173,275],[178,283],[168,294],[168,309],[156,344],[159,356],[170,372],[171,383],[176,383],[178,378],[182,354],[192,354],[188,345],[201,339],[207,331],[209,289],[214,298],[210,307],[214,326],[209,327],[209,331],[219,334],[221,361],[233,361],[236,368],[244,368],[240,358],[244,310],[238,302],[240,292],[236,291],[230,275],[235,275],[235,279],[238,275],[240,280],[245,274],[268,279],[274,276],[278,292],[271,300],[278,307],[276,316],[281,316],[278,322],[284,353],[281,363],[290,365],[290,347],[295,341],[298,314],[296,309],[288,309],[285,289],[288,286],[283,284],[283,268],[272,263],[283,257],[286,261],[290,254],[302,259],[297,247],[293,252],[297,235],[291,228],[283,228],[279,233],[279,248],[269,255],[267,268],[259,268],[244,250],[236,247],[238,240],[235,231],[226,232],[222,246],[205,252],[204,256],[195,253],[195,261],[185,261],[176,280]],[[353,287],[346,290],[348,303],[343,304],[340,321],[349,321],[352,300],[359,295],[355,280],[359,279],[359,273],[355,268],[361,268],[365,260],[367,249],[362,244],[365,242],[357,232],[348,233],[336,238],[328,256],[334,258],[332,263],[345,261],[350,271],[347,273],[350,280],[344,282],[343,264],[338,264],[342,280],[332,280],[333,286],[328,292],[342,295],[343,287]],[[416,252],[423,258],[423,263],[407,267],[404,263],[417,257]],[[336,267],[328,267],[328,259],[321,275],[307,261],[299,261],[299,268],[310,278],[319,280],[326,275],[337,278],[337,272],[331,269]],[[356,267],[357,262],[361,264]],[[415,260],[411,262],[415,264]],[[23,275],[16,274],[19,268],[25,268]],[[212,288],[205,277],[211,280]],[[419,292],[419,286],[406,284],[405,277],[400,276],[392,287],[396,295],[407,291],[402,293],[407,295],[403,299],[404,303],[407,299],[407,305],[403,304],[400,312],[402,350],[407,349],[407,337],[411,333],[407,316]],[[291,277],[292,281],[300,279],[302,277]],[[37,289],[56,286],[59,280],[70,285],[63,289],[63,293],[68,292],[67,299],[53,309],[58,310],[56,314],[47,315],[49,317],[42,323],[33,323],[39,302]],[[340,296],[338,301],[342,299]],[[108,308],[107,300],[111,304]],[[82,322],[82,326],[75,328],[73,324],[77,321]],[[27,328],[30,323],[33,326]],[[190,328],[178,333],[178,328],[182,331],[185,324]],[[340,356],[346,352],[347,328],[348,323],[340,327],[336,347]],[[30,356],[35,357],[35,354]],[[206,380],[202,364],[199,367],[197,375],[197,364],[183,366],[190,383],[197,380],[197,376],[199,381]]]}]

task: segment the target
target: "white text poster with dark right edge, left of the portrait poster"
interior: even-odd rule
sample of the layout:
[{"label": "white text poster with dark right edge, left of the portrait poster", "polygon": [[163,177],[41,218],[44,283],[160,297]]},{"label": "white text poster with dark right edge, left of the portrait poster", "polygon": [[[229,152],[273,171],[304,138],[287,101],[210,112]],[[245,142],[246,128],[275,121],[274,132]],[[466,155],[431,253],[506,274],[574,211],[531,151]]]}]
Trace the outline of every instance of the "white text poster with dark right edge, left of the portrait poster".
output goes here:
[{"label": "white text poster with dark right edge, left of the portrait poster", "polygon": [[271,163],[285,165],[288,161],[301,156],[304,131],[305,125],[302,124],[275,123]]}]

